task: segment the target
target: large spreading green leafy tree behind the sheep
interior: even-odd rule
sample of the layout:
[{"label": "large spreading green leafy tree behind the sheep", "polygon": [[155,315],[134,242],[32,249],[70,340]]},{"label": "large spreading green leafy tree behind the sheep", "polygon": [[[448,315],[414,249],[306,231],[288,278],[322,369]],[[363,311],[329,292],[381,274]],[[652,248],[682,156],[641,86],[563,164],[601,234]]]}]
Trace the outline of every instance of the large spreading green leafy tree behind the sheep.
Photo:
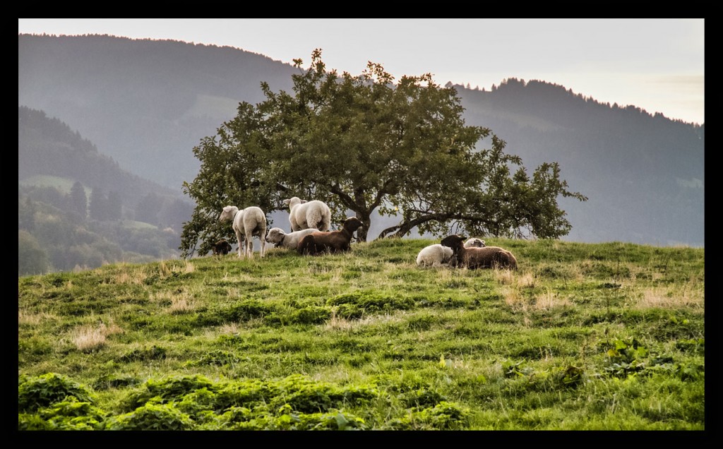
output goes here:
[{"label": "large spreading green leafy tree behind the sheep", "polygon": [[530,177],[490,129],[466,126],[453,87],[431,74],[395,83],[372,62],[358,76],[338,74],[318,49],[309,69],[301,59],[294,66],[293,93],[262,83],[265,101],[239,103],[234,119],[194,147],[201,168],[184,182],[196,202],[181,235],[184,256],[197,247],[205,254],[220,236],[233,239],[218,222],[224,205],[268,213],[291,196],[327,202],[336,220],[351,210],[365,225],[362,241],[375,210],[399,218],[380,237],[414,228],[539,238],[570,231],[557,198],[586,197],[568,190],[557,163]]}]

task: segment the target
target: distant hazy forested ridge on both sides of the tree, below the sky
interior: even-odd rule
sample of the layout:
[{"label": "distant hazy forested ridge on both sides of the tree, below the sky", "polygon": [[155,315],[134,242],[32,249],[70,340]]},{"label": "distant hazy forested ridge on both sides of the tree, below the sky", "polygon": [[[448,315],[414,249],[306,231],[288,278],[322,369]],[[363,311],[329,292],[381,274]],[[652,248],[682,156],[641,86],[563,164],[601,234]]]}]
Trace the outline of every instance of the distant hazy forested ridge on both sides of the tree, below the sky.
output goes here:
[{"label": "distant hazy forested ridge on both sides of the tree, below the sky", "polygon": [[[237,48],[174,40],[18,41],[20,106],[58,117],[122,168],[176,192],[197,174],[192,148],[232,119],[239,101],[262,101],[260,82],[290,90],[296,70]],[[455,88],[468,124],[492,129],[530,172],[560,162],[570,189],[589,197],[560,200],[573,225],[568,239],[703,246],[704,124],[540,80]]]}]

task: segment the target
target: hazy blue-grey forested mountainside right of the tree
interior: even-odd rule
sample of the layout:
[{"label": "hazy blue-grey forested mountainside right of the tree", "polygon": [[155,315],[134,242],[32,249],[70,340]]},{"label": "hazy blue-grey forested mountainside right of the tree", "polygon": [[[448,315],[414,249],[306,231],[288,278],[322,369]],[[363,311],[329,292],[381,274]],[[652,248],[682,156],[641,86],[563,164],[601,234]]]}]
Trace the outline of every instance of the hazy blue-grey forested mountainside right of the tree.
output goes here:
[{"label": "hazy blue-grey forested mountainside right of the tree", "polygon": [[526,166],[559,161],[589,201],[562,200],[579,241],[703,246],[705,127],[584,98],[547,82],[457,86],[471,124],[484,124]]}]

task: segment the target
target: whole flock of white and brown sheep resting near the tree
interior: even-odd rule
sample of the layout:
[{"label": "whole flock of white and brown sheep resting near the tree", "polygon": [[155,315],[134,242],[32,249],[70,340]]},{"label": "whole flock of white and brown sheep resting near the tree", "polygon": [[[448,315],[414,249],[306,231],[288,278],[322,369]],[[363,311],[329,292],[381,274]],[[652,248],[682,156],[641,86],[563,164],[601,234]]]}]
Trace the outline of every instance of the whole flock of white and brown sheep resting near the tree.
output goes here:
[{"label": "whole flock of white and brown sheep resting near the tree", "polygon": [[[356,217],[349,217],[337,231],[330,231],[331,211],[319,200],[301,200],[292,197],[283,200],[288,205],[288,221],[291,232],[281,228],[270,228],[266,232],[266,215],[256,206],[239,210],[236,206],[226,206],[219,220],[231,221],[231,227],[239,241],[239,257],[253,256],[254,236],[261,243],[260,256],[265,255],[265,244],[296,250],[299,255],[320,255],[329,252],[345,252],[350,249],[354,232],[364,224]],[[231,252],[231,244],[225,239],[213,245],[214,255],[226,255]],[[487,247],[484,240],[453,234],[445,237],[439,244],[422,248],[416,257],[419,266],[450,266],[458,268],[511,268],[517,269],[517,260],[506,249]]]}]

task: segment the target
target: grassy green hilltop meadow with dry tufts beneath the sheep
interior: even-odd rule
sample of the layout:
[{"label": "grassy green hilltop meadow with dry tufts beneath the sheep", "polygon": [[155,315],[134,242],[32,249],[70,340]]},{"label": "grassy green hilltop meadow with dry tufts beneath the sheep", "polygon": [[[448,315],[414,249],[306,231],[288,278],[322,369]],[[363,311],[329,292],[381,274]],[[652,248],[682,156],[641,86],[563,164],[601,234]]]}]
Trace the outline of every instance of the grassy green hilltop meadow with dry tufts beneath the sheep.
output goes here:
[{"label": "grassy green hilltop meadow with dry tufts beneath the sheep", "polygon": [[704,249],[488,238],[18,278],[18,429],[705,430]]}]

